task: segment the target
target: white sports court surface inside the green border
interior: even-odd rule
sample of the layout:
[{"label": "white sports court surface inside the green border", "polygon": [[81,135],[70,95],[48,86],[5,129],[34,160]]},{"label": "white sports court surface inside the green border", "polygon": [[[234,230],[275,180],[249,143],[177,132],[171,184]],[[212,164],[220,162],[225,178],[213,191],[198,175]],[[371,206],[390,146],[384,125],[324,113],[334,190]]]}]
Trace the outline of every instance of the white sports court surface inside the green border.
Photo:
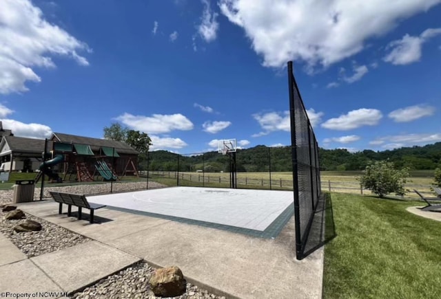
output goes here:
[{"label": "white sports court surface inside the green border", "polygon": [[174,187],[89,196],[88,201],[264,231],[294,197],[291,191]]}]

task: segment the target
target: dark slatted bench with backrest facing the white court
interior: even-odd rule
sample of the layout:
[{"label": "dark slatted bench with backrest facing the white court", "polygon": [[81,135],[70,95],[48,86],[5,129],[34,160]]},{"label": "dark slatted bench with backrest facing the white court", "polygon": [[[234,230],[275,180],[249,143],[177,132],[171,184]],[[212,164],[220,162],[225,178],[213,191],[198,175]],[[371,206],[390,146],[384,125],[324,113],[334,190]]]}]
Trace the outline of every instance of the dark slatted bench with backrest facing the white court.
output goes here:
[{"label": "dark slatted bench with backrest facing the white court", "polygon": [[63,203],[68,205],[68,216],[72,213],[72,206],[78,207],[78,219],[81,220],[81,210],[86,208],[90,210],[90,223],[94,222],[94,211],[105,208],[105,205],[99,205],[96,203],[89,203],[85,198],[85,195],[76,195],[61,192],[52,192],[50,195],[53,197],[54,201],[59,203],[59,214],[63,214]]}]

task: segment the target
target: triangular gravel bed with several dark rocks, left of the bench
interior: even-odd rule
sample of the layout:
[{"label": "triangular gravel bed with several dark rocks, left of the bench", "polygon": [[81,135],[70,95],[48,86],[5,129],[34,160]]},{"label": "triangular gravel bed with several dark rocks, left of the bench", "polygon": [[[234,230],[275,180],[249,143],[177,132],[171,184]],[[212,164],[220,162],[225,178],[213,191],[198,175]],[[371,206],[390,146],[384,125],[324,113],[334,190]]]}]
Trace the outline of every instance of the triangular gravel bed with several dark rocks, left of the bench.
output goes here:
[{"label": "triangular gravel bed with several dark rocks, left of the bench", "polygon": [[[0,210],[0,232],[30,258],[90,241],[81,234],[76,234],[28,213],[25,213],[25,219],[6,220],[4,216],[7,213]],[[41,230],[39,232],[15,232],[14,226],[26,219],[39,222]]]}]

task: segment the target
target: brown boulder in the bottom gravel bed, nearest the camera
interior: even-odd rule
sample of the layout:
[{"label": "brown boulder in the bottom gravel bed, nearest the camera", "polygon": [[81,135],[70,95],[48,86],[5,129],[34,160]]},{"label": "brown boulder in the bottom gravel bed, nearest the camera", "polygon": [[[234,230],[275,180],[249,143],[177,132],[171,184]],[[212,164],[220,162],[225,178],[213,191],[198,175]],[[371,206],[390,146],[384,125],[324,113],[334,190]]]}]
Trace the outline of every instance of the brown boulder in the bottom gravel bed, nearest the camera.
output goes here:
[{"label": "brown boulder in the bottom gravel bed, nearest the camera", "polygon": [[176,266],[156,269],[149,280],[150,289],[158,297],[181,296],[187,290],[187,281]]}]

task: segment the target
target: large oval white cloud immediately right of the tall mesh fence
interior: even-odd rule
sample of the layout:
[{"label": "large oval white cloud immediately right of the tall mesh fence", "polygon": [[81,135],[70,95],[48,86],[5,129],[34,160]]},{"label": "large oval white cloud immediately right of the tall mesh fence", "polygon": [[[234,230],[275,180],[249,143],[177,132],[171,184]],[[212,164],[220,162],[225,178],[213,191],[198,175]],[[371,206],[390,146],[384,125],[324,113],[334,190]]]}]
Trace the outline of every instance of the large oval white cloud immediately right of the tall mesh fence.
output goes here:
[{"label": "large oval white cloud immediately right of the tall mesh fence", "polygon": [[375,126],[382,118],[382,113],[377,109],[358,109],[331,118],[322,123],[322,127],[331,130],[347,131],[360,126]]}]

